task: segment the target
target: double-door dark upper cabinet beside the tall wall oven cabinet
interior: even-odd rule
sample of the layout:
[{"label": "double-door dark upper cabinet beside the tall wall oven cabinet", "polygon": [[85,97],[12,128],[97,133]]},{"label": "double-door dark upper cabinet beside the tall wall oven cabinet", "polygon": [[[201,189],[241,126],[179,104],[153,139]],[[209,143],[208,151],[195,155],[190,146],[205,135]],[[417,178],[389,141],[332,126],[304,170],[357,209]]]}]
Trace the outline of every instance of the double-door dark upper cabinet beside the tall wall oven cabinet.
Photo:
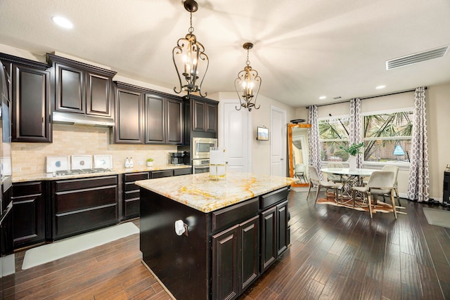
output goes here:
[{"label": "double-door dark upper cabinet beside the tall wall oven cabinet", "polygon": [[182,145],[184,137],[181,99],[146,94],[146,143]]}]

